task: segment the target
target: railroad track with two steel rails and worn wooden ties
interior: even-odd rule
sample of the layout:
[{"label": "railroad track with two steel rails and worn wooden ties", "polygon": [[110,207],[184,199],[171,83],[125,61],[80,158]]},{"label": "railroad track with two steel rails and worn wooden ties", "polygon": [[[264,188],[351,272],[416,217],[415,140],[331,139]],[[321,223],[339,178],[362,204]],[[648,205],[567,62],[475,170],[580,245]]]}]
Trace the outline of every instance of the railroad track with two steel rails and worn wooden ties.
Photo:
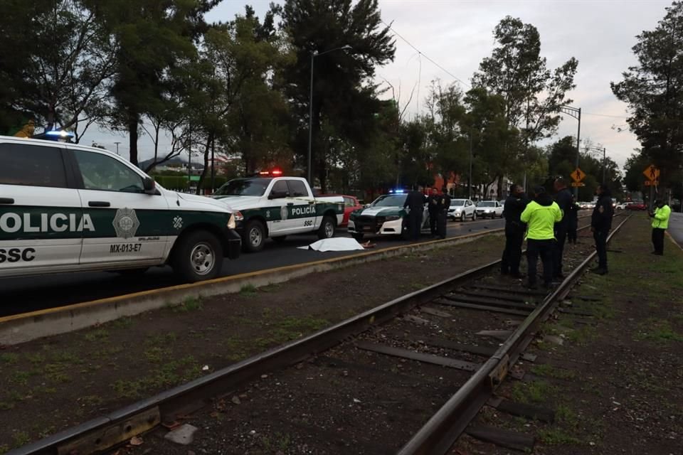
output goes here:
[{"label": "railroad track with two steel rails and worn wooden ties", "polygon": [[[281,436],[297,446],[287,453],[445,454],[594,256],[573,253],[581,263],[550,292],[502,281],[491,262],[9,454],[103,453],[184,420],[205,422],[207,441],[221,435],[221,453],[295,434]],[[280,424],[248,428],[261,421]],[[157,443],[154,453],[187,453]]]}]

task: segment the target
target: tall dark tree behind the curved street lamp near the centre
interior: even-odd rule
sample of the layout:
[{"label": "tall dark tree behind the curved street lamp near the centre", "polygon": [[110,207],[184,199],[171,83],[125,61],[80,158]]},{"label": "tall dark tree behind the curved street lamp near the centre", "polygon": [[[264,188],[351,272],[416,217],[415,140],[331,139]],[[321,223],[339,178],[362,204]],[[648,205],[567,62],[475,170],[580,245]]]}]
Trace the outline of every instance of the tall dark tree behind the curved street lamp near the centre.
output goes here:
[{"label": "tall dark tree behind the curved street lamp near the centre", "polygon": [[[352,5],[352,3],[354,3]],[[362,90],[362,83],[374,77],[376,65],[393,60],[394,42],[388,27],[381,28],[378,0],[287,0],[281,10],[282,29],[297,57],[284,74],[287,98],[293,101],[300,138],[307,136],[311,56],[314,59],[312,105],[312,162],[322,190],[325,191],[327,166],[335,157],[321,153],[319,132],[324,119],[346,139],[362,140],[364,124],[359,116],[377,112],[358,112],[354,106],[361,98],[373,96],[374,90]],[[350,45],[351,51],[327,52]],[[352,54],[352,55],[351,55]],[[365,103],[362,103],[365,104]],[[297,142],[300,156],[307,141]]]}]

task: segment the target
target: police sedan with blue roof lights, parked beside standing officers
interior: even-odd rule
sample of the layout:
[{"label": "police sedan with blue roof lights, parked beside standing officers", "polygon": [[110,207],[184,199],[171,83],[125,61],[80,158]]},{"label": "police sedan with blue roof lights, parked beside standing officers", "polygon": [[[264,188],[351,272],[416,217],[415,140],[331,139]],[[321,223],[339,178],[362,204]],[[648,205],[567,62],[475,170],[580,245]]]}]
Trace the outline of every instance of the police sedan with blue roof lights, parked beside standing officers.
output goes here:
[{"label": "police sedan with blue roof lights, parked beside standing officers", "polygon": [[[403,208],[407,195],[384,194],[367,208],[361,208],[349,216],[349,234],[363,240],[365,234],[401,235],[408,238],[408,212]],[[429,225],[427,205],[422,214],[422,228]]]}]

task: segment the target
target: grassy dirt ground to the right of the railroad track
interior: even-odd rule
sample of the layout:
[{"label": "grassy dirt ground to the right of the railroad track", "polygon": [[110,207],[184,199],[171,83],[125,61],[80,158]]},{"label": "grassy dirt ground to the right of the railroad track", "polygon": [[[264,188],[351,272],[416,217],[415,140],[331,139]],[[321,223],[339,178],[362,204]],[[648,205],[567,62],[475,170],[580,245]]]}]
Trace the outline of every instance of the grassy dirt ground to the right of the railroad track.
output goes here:
[{"label": "grassy dirt ground to the right of the railroad track", "polygon": [[[519,363],[524,378],[499,390],[554,410],[554,424],[492,408],[478,423],[534,436],[539,455],[683,454],[683,252],[667,239],[665,255],[651,255],[642,214],[608,250],[609,274],[586,274],[568,297],[566,308],[593,316],[545,323],[528,351],[537,361]],[[511,451],[465,437],[453,453]]]}]

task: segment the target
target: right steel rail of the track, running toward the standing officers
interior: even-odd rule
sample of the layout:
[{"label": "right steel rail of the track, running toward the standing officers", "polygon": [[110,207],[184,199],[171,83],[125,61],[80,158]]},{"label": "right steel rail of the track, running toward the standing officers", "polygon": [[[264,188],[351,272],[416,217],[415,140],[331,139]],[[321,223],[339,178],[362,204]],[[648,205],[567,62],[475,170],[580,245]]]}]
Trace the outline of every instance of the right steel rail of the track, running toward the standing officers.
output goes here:
[{"label": "right steel rail of the track, running toward the standing officers", "polygon": [[[610,232],[608,242],[629,219],[630,216]],[[597,252],[592,252],[549,296],[546,296],[494,355],[413,435],[397,455],[448,453],[452,444],[492,397],[509,368],[529,345],[536,327],[551,314],[555,304],[568,294],[596,255]]]}]

